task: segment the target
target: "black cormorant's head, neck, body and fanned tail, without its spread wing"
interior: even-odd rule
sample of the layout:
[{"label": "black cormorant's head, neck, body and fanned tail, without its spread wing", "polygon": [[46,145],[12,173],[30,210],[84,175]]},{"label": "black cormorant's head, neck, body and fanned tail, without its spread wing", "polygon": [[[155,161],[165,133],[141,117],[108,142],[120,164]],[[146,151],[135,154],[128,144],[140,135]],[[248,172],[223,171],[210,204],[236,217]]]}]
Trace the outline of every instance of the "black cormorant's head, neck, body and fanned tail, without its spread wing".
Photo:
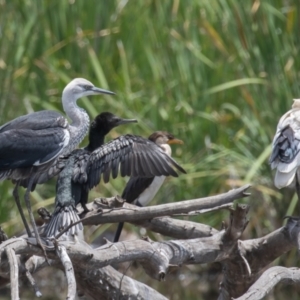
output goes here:
[{"label": "black cormorant's head, neck, body and fanned tail, without its spread wing", "polygon": [[[56,185],[55,209],[50,222],[45,226],[44,236],[56,236],[71,223],[77,222],[79,220],[76,210],[77,204],[81,203],[84,211],[88,211],[86,203],[89,189],[85,184],[86,180],[82,182],[77,176],[86,167],[85,157],[104,144],[105,136],[113,128],[121,124],[135,122],[137,122],[135,119],[122,119],[110,112],[103,112],[91,123],[89,144],[85,148],[74,150],[70,155],[60,157],[57,169],[62,171],[59,173]],[[70,172],[71,177],[69,180]],[[44,175],[47,176],[48,173]],[[69,239],[76,235],[80,236],[82,229],[82,224],[80,223],[80,226],[77,224],[63,234],[63,237]]]}]

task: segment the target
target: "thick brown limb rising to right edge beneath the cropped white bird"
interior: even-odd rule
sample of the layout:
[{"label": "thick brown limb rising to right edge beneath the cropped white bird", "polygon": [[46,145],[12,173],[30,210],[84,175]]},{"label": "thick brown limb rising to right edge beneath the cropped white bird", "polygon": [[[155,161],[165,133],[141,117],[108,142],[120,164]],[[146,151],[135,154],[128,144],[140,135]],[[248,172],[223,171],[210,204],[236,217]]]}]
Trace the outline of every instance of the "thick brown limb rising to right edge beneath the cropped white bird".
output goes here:
[{"label": "thick brown limb rising to right edge beneath the cropped white bird", "polygon": [[[273,260],[298,247],[299,233],[300,220],[290,218],[284,227],[264,237],[239,241],[230,259],[222,262],[224,277],[219,299],[243,295]],[[243,257],[250,266],[251,275]]]}]

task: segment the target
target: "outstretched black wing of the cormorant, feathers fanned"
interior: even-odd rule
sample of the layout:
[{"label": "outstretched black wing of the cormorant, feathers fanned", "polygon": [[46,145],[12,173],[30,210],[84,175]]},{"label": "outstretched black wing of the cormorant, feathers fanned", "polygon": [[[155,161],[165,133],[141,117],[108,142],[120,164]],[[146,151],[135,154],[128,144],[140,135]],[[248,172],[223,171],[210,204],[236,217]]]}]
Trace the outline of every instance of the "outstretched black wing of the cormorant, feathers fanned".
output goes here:
[{"label": "outstretched black wing of the cormorant, feathers fanned", "polygon": [[88,165],[88,186],[93,188],[103,174],[104,182],[110,174],[121,176],[177,176],[173,168],[185,171],[154,142],[135,135],[120,136],[91,153]]}]

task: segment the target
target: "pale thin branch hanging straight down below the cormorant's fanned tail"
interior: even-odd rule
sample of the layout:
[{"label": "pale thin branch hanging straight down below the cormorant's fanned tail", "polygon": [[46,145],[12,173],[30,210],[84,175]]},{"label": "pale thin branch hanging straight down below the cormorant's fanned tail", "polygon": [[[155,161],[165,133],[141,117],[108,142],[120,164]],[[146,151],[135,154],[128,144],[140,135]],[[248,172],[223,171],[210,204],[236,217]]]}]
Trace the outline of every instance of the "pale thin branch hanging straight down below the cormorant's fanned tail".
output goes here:
[{"label": "pale thin branch hanging straight down below the cormorant's fanned tail", "polygon": [[68,300],[75,300],[76,297],[76,280],[75,280],[75,274],[72,262],[70,260],[70,257],[67,253],[67,250],[64,246],[58,245],[56,249],[56,254],[60,258],[64,269],[65,274],[67,277],[67,283],[68,283]]}]

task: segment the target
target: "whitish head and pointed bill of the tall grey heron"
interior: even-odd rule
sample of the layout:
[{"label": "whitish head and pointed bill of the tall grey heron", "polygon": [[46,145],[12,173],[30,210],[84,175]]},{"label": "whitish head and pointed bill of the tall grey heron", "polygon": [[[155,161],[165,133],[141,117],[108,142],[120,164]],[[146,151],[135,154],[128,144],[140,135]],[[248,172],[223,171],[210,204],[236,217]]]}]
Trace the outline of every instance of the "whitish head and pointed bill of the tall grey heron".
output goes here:
[{"label": "whitish head and pointed bill of the tall grey heron", "polygon": [[95,87],[90,81],[84,78],[73,79],[63,90],[63,98],[64,96],[71,96],[72,100],[97,94],[114,95],[115,93]]}]

